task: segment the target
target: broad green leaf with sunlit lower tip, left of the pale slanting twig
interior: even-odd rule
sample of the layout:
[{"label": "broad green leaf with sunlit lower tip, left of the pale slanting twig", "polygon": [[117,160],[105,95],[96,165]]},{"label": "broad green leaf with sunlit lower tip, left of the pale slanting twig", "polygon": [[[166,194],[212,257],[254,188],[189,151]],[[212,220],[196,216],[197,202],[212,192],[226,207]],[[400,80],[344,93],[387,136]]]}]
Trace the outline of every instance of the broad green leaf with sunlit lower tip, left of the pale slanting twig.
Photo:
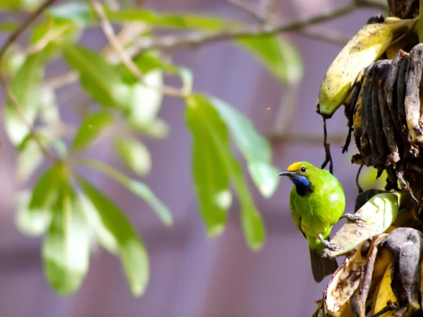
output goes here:
[{"label": "broad green leaf with sunlit lower tip, left of the pale slanting twig", "polygon": [[118,67],[95,51],[76,44],[61,45],[68,66],[80,75],[82,87],[102,106],[126,108],[131,90]]}]

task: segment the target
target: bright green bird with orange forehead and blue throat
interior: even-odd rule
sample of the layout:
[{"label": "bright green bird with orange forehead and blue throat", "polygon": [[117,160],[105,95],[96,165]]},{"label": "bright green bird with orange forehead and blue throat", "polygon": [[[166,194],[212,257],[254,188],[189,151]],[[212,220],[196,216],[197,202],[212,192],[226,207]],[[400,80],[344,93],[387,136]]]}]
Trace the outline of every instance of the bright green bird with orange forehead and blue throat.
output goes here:
[{"label": "bright green bird with orange forehead and blue throat", "polygon": [[320,282],[338,268],[336,259],[321,257],[325,247],[336,248],[328,241],[332,226],[341,218],[357,220],[358,217],[351,214],[343,216],[343,187],[329,171],[308,162],[297,162],[279,175],[288,176],[294,183],[289,199],[291,215],[298,230],[307,239],[313,278]]}]

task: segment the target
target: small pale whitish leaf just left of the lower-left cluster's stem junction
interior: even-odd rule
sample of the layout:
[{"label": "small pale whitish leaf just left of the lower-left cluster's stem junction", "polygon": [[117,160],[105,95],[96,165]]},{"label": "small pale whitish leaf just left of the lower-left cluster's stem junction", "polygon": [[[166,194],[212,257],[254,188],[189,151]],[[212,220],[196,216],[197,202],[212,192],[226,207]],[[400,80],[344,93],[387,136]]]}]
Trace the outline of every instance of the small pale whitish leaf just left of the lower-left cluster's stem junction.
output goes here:
[{"label": "small pale whitish leaf just left of the lower-left cluster's stem junction", "polygon": [[39,149],[37,142],[28,139],[25,146],[18,154],[16,163],[16,173],[20,182],[26,182],[32,174],[39,168],[44,160],[44,154]]}]

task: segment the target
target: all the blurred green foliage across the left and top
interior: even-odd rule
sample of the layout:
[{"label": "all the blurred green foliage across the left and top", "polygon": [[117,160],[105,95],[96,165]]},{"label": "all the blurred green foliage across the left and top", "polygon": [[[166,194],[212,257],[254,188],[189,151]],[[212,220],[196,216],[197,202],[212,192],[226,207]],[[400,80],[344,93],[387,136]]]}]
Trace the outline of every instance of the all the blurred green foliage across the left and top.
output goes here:
[{"label": "all the blurred green foliage across the left and top", "polygon": [[[140,138],[164,138],[170,132],[158,116],[164,91],[154,89],[164,85],[165,75],[180,78],[180,88],[174,89],[180,89],[179,97],[186,104],[186,124],[192,136],[192,180],[209,237],[221,235],[225,229],[235,194],[240,201],[245,241],[252,250],[260,249],[265,240],[264,223],[247,187],[247,174],[265,198],[271,197],[278,185],[269,143],[249,118],[223,100],[193,91],[191,71],[169,61],[169,55],[160,48],[137,51],[138,42],[158,37],[158,29],[225,32],[243,23],[193,13],[157,13],[124,2],[126,6],[118,10],[107,6],[103,10],[124,35],[123,48],[135,52],[133,61],[144,76],[142,82],[110,47],[94,50],[80,43],[88,28],[99,27],[97,14],[88,1],[65,1],[49,7],[28,27],[27,42],[13,44],[0,65],[20,106],[8,100],[4,116],[8,138],[18,149],[18,180],[26,183],[34,179],[42,163],[49,162],[35,187],[27,186],[18,193],[16,225],[26,235],[44,236],[45,275],[59,294],[71,294],[80,287],[88,271],[92,244],[121,260],[135,296],[145,292],[149,281],[148,246],[125,212],[77,170],[85,166],[103,173],[144,200],[164,225],[172,225],[171,209],[161,202],[160,193],[152,192],[139,180],[154,165],[154,157]],[[30,14],[40,3],[0,1],[0,10],[7,14],[0,32],[12,32],[19,25],[18,15],[9,13]],[[232,43],[255,56],[281,83],[301,79],[300,55],[287,39],[257,35]],[[63,61],[71,73],[46,78],[44,70],[56,61]],[[68,77],[71,80],[60,83]],[[85,107],[78,126],[63,122],[56,98],[59,89],[73,82],[79,83],[89,104],[98,105]],[[78,106],[75,101],[75,108]],[[110,142],[131,175],[87,157],[87,149],[105,130],[113,128],[118,128],[119,134],[109,138]],[[242,154],[247,173],[231,144]],[[54,155],[47,158],[49,153]]]}]

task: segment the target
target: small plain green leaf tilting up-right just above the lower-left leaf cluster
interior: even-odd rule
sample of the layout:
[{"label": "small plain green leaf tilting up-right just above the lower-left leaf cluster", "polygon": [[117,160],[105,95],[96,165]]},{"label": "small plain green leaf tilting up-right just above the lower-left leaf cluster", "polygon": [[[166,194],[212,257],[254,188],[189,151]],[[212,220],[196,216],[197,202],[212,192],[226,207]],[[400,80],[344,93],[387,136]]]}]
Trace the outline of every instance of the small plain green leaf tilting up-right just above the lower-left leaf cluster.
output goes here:
[{"label": "small plain green leaf tilting up-right just above the lower-left leaf cluster", "polygon": [[106,111],[90,113],[82,120],[75,139],[73,139],[72,150],[87,147],[108,125],[114,123],[114,116]]}]

